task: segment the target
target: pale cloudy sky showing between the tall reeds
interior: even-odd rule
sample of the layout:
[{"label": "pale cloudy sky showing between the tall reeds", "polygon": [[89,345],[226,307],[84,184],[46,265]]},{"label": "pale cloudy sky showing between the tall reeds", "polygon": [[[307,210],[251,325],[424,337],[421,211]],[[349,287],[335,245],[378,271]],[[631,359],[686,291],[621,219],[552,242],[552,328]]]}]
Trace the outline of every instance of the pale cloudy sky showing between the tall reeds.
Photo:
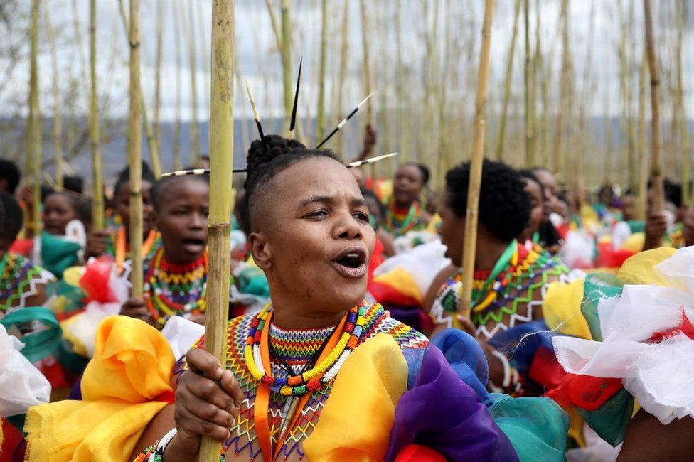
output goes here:
[{"label": "pale cloudy sky showing between the tall reeds", "polygon": [[[80,17],[80,33],[82,35],[83,56],[88,56],[87,48],[87,21],[89,18],[88,0],[43,0],[46,7],[45,11],[50,15],[50,21],[58,33],[58,71],[60,86],[63,91],[68,85],[68,75],[80,75],[82,68],[82,58],[75,46],[75,29],[73,27],[72,3],[76,1],[78,14]],[[99,91],[102,97],[109,95],[112,102],[110,104],[110,117],[125,117],[127,114],[127,88],[128,88],[128,50],[127,41],[124,34],[121,18],[118,13],[119,0],[97,0],[97,73],[99,74]],[[127,4],[127,0],[124,0]],[[345,1],[350,1],[350,60],[348,65],[348,77],[346,81],[346,95],[342,95],[345,107],[356,104],[364,96],[362,85],[363,75],[363,50],[361,46],[361,20],[358,0],[328,0],[329,12],[329,70],[336,67],[338,63],[338,47],[341,34],[341,23],[343,21],[342,11]],[[429,23],[422,21],[422,4],[427,1],[429,8],[434,4],[440,4],[439,30],[444,30],[445,21],[452,21],[447,14],[447,7],[455,4],[458,11],[462,11],[462,16],[455,16],[457,19],[464,17],[465,20],[453,25],[457,28],[461,36],[471,36],[477,38],[481,27],[481,18],[484,10],[482,0],[400,0],[402,8],[403,24],[403,60],[408,68],[417,70],[421,68],[425,58],[425,45],[422,39],[424,29],[430,30],[433,27],[433,18],[429,18]],[[635,4],[635,14],[638,32],[637,50],[641,50],[640,26],[642,21],[641,9],[643,4],[638,0],[621,0],[624,6],[629,6],[631,2]],[[689,3],[691,0],[683,0]],[[28,9],[29,1],[20,1],[21,6]],[[271,0],[279,17],[279,0]],[[370,8],[393,9],[395,0],[367,1]],[[560,36],[557,35],[557,18],[560,10],[560,0],[531,0],[533,9],[539,6],[542,9],[541,40],[546,50],[551,50],[553,65],[555,66],[555,76],[558,76],[560,68],[561,43]],[[665,3],[665,0],[654,2],[656,6]],[[164,5],[165,13],[160,14],[158,8]],[[318,49],[320,36],[320,4],[319,0],[292,0],[292,21],[294,23],[294,48],[293,60],[296,70],[299,55],[304,56],[304,82],[301,87],[300,104],[305,111],[313,112],[316,101],[316,85],[314,76],[318,70]],[[496,15],[492,29],[492,70],[491,70],[491,92],[495,88],[501,87],[504,68],[506,66],[506,55],[508,44],[511,39],[511,29],[513,26],[513,4],[515,0],[497,0]],[[589,31],[589,18],[594,9],[594,36],[592,39],[592,77],[591,81],[596,82],[594,89],[590,92],[592,114],[602,114],[606,111],[613,115],[619,113],[619,61],[616,55],[616,44],[619,41],[619,25],[614,9],[616,1],[612,0],[571,0],[570,1],[570,29],[572,53],[575,61],[575,79],[577,85],[584,83],[584,65],[587,55],[587,37]],[[384,6],[385,5],[385,6]],[[694,15],[694,5],[690,5],[690,18],[687,21],[687,30],[684,39],[684,82],[686,105],[689,112],[694,111],[694,32],[691,16]],[[198,50],[198,61],[196,69],[196,90],[198,95],[198,119],[201,121],[208,117],[208,104],[205,92],[209,85],[209,66],[205,63],[205,58],[209,59],[210,44],[210,0],[142,0],[142,87],[146,102],[149,107],[154,102],[154,70],[156,65],[156,27],[159,21],[164,27],[164,54],[161,68],[161,119],[173,120],[176,117],[177,95],[180,86],[181,93],[181,117],[183,120],[190,120],[191,111],[191,65],[188,55],[187,41],[183,34],[175,31],[176,18],[174,14],[188,24],[188,28],[195,28],[196,49]],[[191,16],[192,13],[192,16]],[[275,44],[274,33],[265,1],[262,0],[236,0],[236,52],[237,65],[240,75],[245,75],[255,93],[259,109],[265,117],[280,116],[282,111],[282,86],[281,86],[281,67],[279,54]],[[665,17],[665,16],[663,16]],[[670,15],[671,17],[671,15]],[[522,18],[522,16],[521,16]],[[531,16],[531,18],[534,18]],[[534,19],[531,19],[534,21]],[[521,21],[522,24],[522,21]],[[204,33],[201,33],[201,26]],[[656,29],[664,29],[661,19],[656,17]],[[388,22],[371,24],[371,40],[390,38],[393,24]],[[516,71],[514,74],[513,85],[518,95],[522,92],[522,60],[521,50],[523,40],[517,42],[516,50]],[[674,40],[674,25],[668,29],[668,33],[661,36],[661,48],[663,59],[663,72],[671,72],[671,63],[667,53],[671,53]],[[44,115],[50,116],[53,103],[51,101],[50,88],[53,84],[53,64],[50,55],[50,48],[47,45],[46,30],[41,31],[41,54],[39,58],[39,78],[41,82],[41,104]],[[204,38],[204,42],[203,42]],[[479,40],[476,40],[475,48],[479,48]],[[0,45],[1,46],[1,45]],[[669,48],[667,48],[669,47]],[[388,46],[385,47],[388,49]],[[393,45],[394,48],[394,45]],[[180,53],[177,53],[178,52]],[[477,53],[474,50],[474,53]],[[640,53],[640,51],[639,51]],[[475,55],[476,56],[476,55]],[[181,72],[178,73],[177,60],[181,60]],[[372,63],[378,56],[372,56]],[[25,60],[26,61],[26,60]],[[668,64],[669,63],[669,64]],[[3,65],[0,60],[0,66]],[[460,63],[461,66],[477,65],[477,58]],[[636,72],[636,70],[634,70]],[[331,85],[333,79],[330,77],[334,72],[329,72],[328,95],[332,95]],[[636,74],[634,74],[636,75]],[[179,79],[180,77],[180,79]],[[81,80],[87,85],[85,79]],[[634,80],[636,82],[636,80]],[[552,85],[558,92],[557,78]],[[379,80],[375,77],[373,87],[376,92],[388,91],[390,82]],[[250,105],[245,97],[245,92],[237,87],[235,100],[235,114],[237,117],[249,117]],[[636,89],[634,89],[636,91]],[[26,98],[28,92],[28,63],[23,62],[17,66],[12,75],[9,85],[0,94],[0,102],[8,99]],[[84,102],[80,102],[78,107],[82,111],[86,109],[86,97],[82,97]],[[605,101],[608,101],[607,103]],[[472,109],[472,108],[470,108]],[[0,114],[7,114],[8,108],[4,104],[0,105]],[[4,113],[4,114],[3,114]]]}]

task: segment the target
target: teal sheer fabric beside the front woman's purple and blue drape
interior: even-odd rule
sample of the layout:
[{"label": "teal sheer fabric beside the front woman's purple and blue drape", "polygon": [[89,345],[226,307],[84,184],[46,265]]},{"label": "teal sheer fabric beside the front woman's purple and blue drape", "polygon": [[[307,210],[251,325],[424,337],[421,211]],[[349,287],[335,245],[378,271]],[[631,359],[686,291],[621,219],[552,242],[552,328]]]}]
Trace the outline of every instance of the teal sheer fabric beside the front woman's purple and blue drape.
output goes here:
[{"label": "teal sheer fabric beside the front woman's purple and blue drape", "polygon": [[511,398],[492,393],[494,421],[521,461],[566,461],[569,416],[550,398]]}]

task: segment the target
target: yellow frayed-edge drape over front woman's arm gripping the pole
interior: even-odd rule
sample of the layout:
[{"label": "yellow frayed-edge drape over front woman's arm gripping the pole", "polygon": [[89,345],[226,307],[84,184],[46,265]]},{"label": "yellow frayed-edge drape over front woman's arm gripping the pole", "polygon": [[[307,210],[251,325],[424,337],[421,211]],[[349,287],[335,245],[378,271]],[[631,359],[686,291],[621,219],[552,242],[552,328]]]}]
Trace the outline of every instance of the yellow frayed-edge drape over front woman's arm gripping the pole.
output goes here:
[{"label": "yellow frayed-edge drape over front woman's arm gripping the pole", "polygon": [[145,426],[173,402],[173,363],[169,343],[155,328],[126,316],[105,318],[82,376],[83,401],[28,410],[28,460],[127,460]]}]

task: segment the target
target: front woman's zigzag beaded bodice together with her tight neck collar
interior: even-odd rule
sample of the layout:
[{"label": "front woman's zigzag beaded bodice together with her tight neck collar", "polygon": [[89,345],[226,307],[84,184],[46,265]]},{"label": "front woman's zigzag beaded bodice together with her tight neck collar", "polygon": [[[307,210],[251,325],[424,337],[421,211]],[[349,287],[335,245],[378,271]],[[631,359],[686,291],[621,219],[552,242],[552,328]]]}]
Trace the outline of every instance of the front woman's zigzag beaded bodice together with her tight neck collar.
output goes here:
[{"label": "front woman's zigzag beaded bodice together with her tight neck collar", "polygon": [[[255,460],[255,458],[260,458],[261,456],[260,443],[255,433],[253,416],[258,382],[251,375],[244,360],[246,337],[254,316],[255,313],[241,316],[229,321],[228,324],[227,368],[234,372],[245,399],[242,403],[237,426],[233,428],[232,437],[225,441],[227,458],[237,456],[242,460]],[[303,366],[306,358],[310,358],[317,349],[321,348],[323,340],[332,331],[333,328],[312,329],[309,331],[284,331],[276,326],[271,326],[269,333],[270,339],[276,347],[276,353],[281,355],[287,362],[292,362],[292,368],[294,368],[294,366]],[[383,310],[383,307],[378,304],[370,306],[365,314],[365,332],[362,336],[362,343],[372,338],[376,333],[391,335],[402,348],[425,348],[429,343],[429,340],[424,335],[390,318],[388,311]],[[201,338],[196,348],[203,346],[203,344],[204,341]],[[172,380],[177,382],[178,377],[185,369],[185,359],[181,358],[173,368]],[[282,376],[284,372],[274,360],[272,361],[272,372],[274,375],[279,376]],[[284,372],[284,375],[287,375],[287,372]],[[279,451],[278,460],[302,460],[304,458],[302,443],[316,427],[321,410],[332,390],[333,382],[334,380],[331,380],[311,393],[306,406],[299,412],[297,423],[289,430],[289,436]],[[287,397],[282,397],[277,393],[270,394],[268,421],[273,441],[277,440],[279,436],[282,408],[286,399]]]}]

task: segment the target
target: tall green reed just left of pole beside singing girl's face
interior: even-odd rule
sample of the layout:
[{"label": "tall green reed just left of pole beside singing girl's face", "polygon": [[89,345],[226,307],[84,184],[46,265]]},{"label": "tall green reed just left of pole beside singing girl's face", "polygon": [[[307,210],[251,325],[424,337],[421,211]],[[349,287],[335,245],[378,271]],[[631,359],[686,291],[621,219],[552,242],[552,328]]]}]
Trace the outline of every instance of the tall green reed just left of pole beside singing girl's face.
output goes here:
[{"label": "tall green reed just left of pole beside singing girl's face", "polygon": [[[99,152],[99,96],[97,93],[97,6],[96,0],[90,1],[89,8],[89,74],[90,74],[90,100],[89,100],[89,140],[92,151],[92,185],[94,186],[92,197],[92,228],[104,229],[104,190],[102,188],[101,154]],[[142,239],[142,236],[140,236]]]}]

